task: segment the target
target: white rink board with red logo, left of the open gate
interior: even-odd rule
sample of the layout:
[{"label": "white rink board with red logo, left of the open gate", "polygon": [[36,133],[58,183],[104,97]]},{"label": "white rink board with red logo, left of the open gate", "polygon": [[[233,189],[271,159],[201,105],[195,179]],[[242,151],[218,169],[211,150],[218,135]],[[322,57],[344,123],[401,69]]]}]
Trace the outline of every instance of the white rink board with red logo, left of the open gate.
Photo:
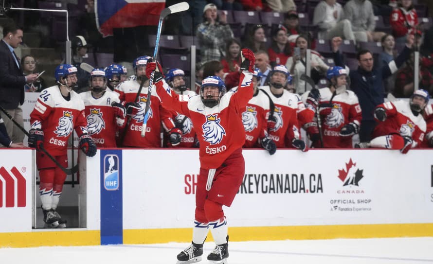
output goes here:
[{"label": "white rink board with red logo, left of the open gate", "polygon": [[[2,195],[2,206],[0,207],[0,233],[2,232],[26,232],[32,230],[32,179],[33,179],[33,156],[31,149],[0,149],[0,182]],[[16,168],[16,170],[14,169]],[[4,169],[4,170],[3,170]],[[25,188],[18,189],[18,177],[25,179]],[[6,188],[3,174],[8,174],[13,180],[13,192]],[[8,178],[8,176],[6,176]],[[23,184],[24,185],[24,184]],[[13,194],[12,204],[6,204],[6,195]],[[24,204],[18,204],[18,196],[25,197]],[[23,198],[24,200],[24,198]]]}]

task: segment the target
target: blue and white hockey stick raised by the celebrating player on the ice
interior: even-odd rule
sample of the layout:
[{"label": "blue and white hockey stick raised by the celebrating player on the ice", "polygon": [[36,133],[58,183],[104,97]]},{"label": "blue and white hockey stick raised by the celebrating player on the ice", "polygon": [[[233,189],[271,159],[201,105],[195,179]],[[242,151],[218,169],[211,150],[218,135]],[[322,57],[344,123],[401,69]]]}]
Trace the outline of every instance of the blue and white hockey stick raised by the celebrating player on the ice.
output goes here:
[{"label": "blue and white hockey stick raised by the celebrating player on the ice", "polygon": [[[156,34],[155,50],[153,51],[153,59],[155,61],[157,60],[157,56],[158,56],[158,48],[160,45],[162,22],[164,21],[164,18],[166,18],[170,14],[179,13],[182,11],[186,11],[188,9],[189,9],[189,4],[187,2],[180,2],[177,4],[171,5],[169,7],[166,7],[162,10],[161,15],[160,15],[160,20],[158,21],[158,31]],[[143,120],[143,126],[142,126],[142,131],[141,131],[142,137],[144,137],[146,134],[147,120],[149,119],[150,96],[152,94],[152,85],[153,85],[153,81],[154,81],[154,76],[155,76],[155,71],[152,71],[152,73],[150,74],[149,88],[147,89],[146,107],[144,108],[144,120]]]}]

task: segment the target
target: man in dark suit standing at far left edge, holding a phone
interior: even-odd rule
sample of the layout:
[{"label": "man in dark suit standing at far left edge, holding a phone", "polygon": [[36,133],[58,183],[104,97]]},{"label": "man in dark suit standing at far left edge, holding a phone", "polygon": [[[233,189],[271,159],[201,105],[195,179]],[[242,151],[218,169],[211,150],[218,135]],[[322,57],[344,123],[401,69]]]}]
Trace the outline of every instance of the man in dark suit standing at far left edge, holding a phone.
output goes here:
[{"label": "man in dark suit standing at far left edge, holding a phone", "polygon": [[[21,105],[24,103],[24,85],[36,81],[37,73],[23,76],[19,59],[14,49],[22,42],[22,29],[15,24],[3,28],[3,39],[0,40],[0,106],[24,126]],[[12,142],[22,143],[24,133],[0,112],[7,134]]]}]

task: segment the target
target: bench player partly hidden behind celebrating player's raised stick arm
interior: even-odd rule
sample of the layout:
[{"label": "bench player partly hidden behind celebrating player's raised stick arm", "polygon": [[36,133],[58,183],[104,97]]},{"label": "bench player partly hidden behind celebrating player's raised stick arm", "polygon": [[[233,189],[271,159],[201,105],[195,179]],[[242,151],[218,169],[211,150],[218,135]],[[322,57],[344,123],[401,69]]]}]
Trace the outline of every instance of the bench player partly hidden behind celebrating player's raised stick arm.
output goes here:
[{"label": "bench player partly hidden behind celebrating player's raised stick arm", "polygon": [[[165,81],[170,86],[170,88],[172,88],[179,95],[197,95],[195,91],[188,90],[185,72],[183,70],[180,70],[178,68],[168,70],[167,74],[165,75]],[[191,119],[176,111],[172,111],[172,113],[173,121],[176,127],[179,129],[181,139],[178,145],[173,145],[170,142],[169,133],[164,133],[164,145],[179,148],[198,147],[196,130],[194,129]]]}]

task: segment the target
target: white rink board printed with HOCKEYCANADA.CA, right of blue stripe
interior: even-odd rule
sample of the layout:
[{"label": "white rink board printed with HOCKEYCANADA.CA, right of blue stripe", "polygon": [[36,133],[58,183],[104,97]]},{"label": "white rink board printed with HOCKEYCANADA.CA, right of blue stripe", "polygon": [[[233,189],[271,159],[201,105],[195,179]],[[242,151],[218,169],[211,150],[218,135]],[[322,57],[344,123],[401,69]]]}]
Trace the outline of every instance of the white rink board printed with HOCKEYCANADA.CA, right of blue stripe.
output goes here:
[{"label": "white rink board printed with HOCKEYCANADA.CA, right of blue stripe", "polygon": [[[411,150],[407,155],[390,150],[243,153],[247,175],[243,193],[237,194],[233,208],[224,207],[232,227],[433,222],[433,160],[428,158],[432,150]],[[358,186],[343,186],[338,177],[350,159],[356,166],[348,175],[362,171]],[[188,175],[197,176],[198,171],[198,150],[124,150],[124,229],[191,227],[195,196],[185,194],[189,190],[185,181],[189,183]],[[276,174],[289,174],[290,193],[270,192],[271,174],[274,179]],[[293,185],[293,174],[298,184]],[[305,191],[300,191],[301,174]],[[320,174],[323,192],[311,193],[311,174],[316,190]],[[268,192],[262,193],[262,187]]]}]

